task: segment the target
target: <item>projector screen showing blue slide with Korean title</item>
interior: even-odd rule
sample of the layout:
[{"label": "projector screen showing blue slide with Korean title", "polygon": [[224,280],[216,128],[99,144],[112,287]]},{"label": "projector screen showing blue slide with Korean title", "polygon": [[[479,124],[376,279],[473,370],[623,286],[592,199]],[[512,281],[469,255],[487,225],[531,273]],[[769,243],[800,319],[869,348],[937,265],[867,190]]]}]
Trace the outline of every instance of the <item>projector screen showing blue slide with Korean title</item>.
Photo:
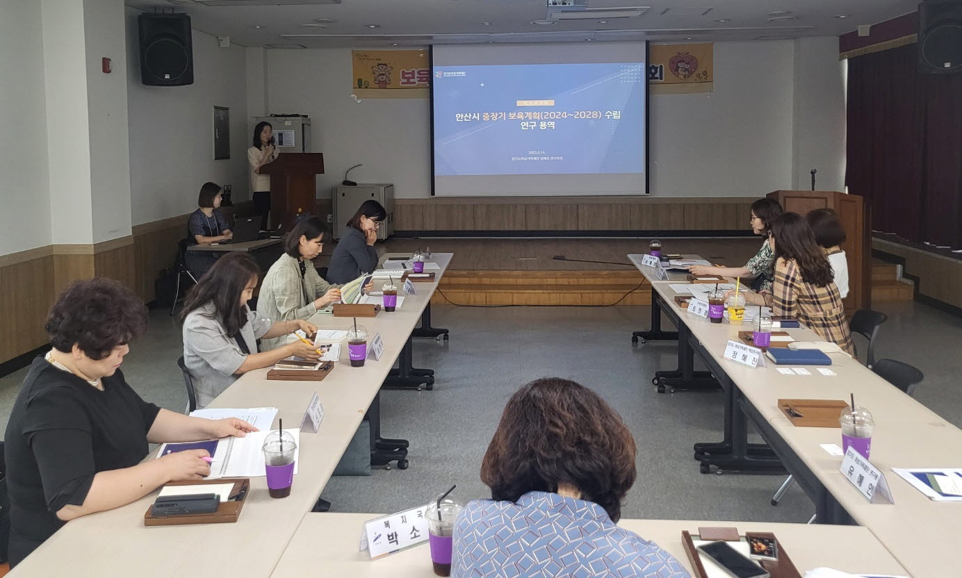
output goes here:
[{"label": "projector screen showing blue slide with Korean title", "polygon": [[646,42],[434,46],[433,194],[646,194],[646,55]]}]

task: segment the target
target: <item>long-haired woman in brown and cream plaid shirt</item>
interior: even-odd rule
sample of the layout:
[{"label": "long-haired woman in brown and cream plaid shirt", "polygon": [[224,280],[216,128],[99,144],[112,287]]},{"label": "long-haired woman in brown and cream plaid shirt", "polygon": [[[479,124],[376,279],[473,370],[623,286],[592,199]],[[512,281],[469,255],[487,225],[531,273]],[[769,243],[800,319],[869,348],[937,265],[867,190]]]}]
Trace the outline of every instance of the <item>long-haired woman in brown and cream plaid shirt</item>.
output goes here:
[{"label": "long-haired woman in brown and cream plaid shirt", "polygon": [[772,292],[743,291],[746,303],[768,305],[776,317],[798,319],[822,339],[855,355],[842,297],[832,282],[832,266],[805,217],[786,213],[776,218],[769,242],[775,255]]}]

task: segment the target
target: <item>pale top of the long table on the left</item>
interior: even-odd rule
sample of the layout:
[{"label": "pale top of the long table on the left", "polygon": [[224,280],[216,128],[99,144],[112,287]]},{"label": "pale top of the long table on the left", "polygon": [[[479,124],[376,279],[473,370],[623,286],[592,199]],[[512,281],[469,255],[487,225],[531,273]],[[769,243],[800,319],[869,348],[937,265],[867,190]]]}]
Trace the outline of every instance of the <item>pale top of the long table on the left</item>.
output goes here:
[{"label": "pale top of the long table on the left", "polygon": [[[277,417],[291,428],[299,426],[312,395],[318,393],[323,420],[316,434],[300,434],[298,472],[291,495],[271,498],[266,478],[254,477],[235,523],[145,527],[143,515],[158,493],[151,491],[126,506],[70,521],[9,576],[269,576],[327,485],[421,320],[451,257],[451,253],[435,253],[432,261],[441,267],[434,270],[435,281],[416,283],[418,293],[406,296],[395,312],[360,320],[371,336],[376,332],[384,340],[380,361],[368,359],[363,367],[351,367],[347,347],[342,347],[341,362],[321,382],[267,381],[267,369],[250,371],[208,406],[275,407]],[[350,317],[329,314],[316,314],[311,321],[322,329],[347,329],[352,322]],[[174,361],[169,360],[171,364]],[[152,452],[145,460],[154,457]]]}]

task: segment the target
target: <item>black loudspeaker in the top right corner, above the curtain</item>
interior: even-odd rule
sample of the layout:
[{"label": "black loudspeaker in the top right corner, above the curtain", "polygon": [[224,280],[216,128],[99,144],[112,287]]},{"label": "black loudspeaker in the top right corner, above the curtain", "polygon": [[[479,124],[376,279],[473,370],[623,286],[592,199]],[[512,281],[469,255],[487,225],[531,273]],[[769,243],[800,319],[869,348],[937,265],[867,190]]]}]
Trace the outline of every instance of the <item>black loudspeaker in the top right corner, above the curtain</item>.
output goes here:
[{"label": "black loudspeaker in the top right corner, above the curtain", "polygon": [[962,0],[919,5],[919,71],[962,73]]}]

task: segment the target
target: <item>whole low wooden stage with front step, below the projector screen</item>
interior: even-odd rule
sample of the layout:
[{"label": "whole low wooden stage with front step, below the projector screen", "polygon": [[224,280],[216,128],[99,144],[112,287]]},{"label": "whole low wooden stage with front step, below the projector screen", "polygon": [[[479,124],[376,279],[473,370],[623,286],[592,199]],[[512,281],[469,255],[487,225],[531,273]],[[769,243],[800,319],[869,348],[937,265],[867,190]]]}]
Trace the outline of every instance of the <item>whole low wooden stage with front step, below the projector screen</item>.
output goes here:
[{"label": "whole low wooden stage with front step, below the projector screen", "polygon": [[[649,305],[651,292],[628,253],[650,239],[388,239],[385,252],[454,253],[432,303],[467,306]],[[745,264],[761,239],[662,239],[671,253]],[[381,246],[379,245],[379,250]],[[565,260],[557,260],[563,256]],[[583,263],[582,261],[607,263]]]}]

